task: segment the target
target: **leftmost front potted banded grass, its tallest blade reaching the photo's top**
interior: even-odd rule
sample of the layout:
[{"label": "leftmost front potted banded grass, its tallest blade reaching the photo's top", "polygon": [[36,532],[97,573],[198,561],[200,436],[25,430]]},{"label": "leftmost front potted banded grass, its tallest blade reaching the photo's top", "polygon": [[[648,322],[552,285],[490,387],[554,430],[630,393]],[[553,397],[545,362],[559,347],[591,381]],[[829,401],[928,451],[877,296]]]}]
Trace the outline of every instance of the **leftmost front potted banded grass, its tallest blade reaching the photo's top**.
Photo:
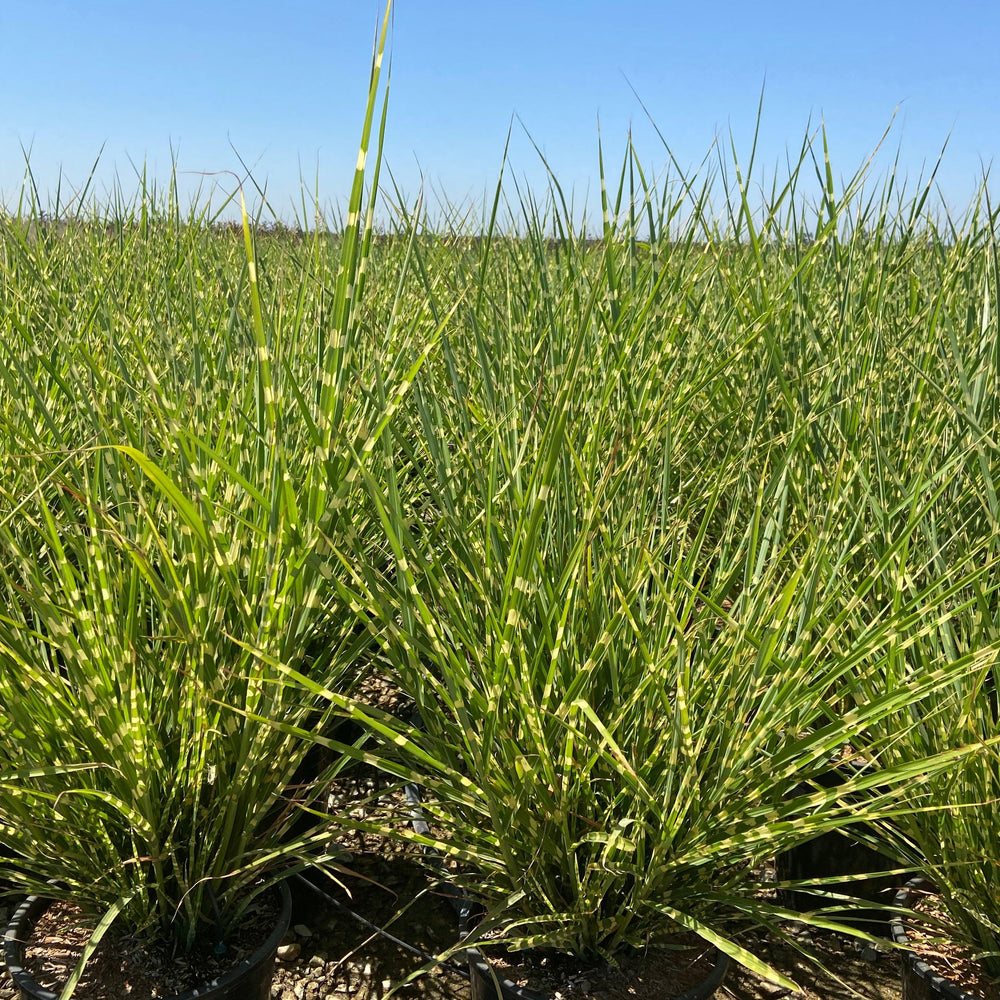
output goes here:
[{"label": "leftmost front potted banded grass, its tallest blade reaching the photo's top", "polygon": [[[311,359],[284,363],[303,349],[300,330],[262,301],[244,210],[242,260],[195,216],[168,282],[194,288],[199,253],[221,240],[239,315],[153,299],[144,308],[157,338],[122,335],[113,375],[78,331],[47,339],[28,356],[76,372],[51,395],[37,389],[47,368],[5,368],[4,429],[30,460],[5,459],[0,494],[0,881],[33,897],[8,933],[12,965],[32,978],[38,942],[25,931],[51,918],[63,933],[73,921],[60,981],[39,984],[63,1000],[92,962],[106,969],[125,952],[120,976],[126,965],[148,971],[153,954],[186,967],[156,995],[266,996],[288,921],[280,886],[305,866],[339,863],[326,786],[355,748],[306,763],[303,734],[329,732],[341,709],[284,671],[342,695],[370,646],[332,582],[335,548],[347,533],[377,547],[357,467],[405,392],[399,366],[413,361],[398,344],[353,350],[365,197],[359,168],[336,281],[317,297],[328,336],[306,338]],[[143,206],[129,238],[167,239],[169,206],[162,218],[151,210],[148,227]],[[152,259],[156,276],[135,287],[163,284]],[[311,275],[287,273],[303,283],[300,303],[313,296]],[[35,327],[47,329],[28,316],[24,329]],[[377,394],[357,389],[376,381]],[[226,956],[240,968],[226,969]],[[244,974],[252,984],[234,982]]]}]

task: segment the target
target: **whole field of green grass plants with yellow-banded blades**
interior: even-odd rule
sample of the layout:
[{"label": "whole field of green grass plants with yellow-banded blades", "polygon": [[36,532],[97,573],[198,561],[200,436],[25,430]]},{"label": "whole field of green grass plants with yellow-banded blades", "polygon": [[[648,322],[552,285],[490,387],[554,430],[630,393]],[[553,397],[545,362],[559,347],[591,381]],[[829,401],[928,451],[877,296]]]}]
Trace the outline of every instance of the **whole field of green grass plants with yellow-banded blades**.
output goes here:
[{"label": "whole field of green grass plants with yellow-banded blades", "polygon": [[629,148],[595,232],[557,178],[390,213],[363,159],[336,227],[0,217],[0,876],[190,947],[336,861],[366,761],[514,947],[768,973],[759,866],[862,817],[1000,975],[986,189]]}]

